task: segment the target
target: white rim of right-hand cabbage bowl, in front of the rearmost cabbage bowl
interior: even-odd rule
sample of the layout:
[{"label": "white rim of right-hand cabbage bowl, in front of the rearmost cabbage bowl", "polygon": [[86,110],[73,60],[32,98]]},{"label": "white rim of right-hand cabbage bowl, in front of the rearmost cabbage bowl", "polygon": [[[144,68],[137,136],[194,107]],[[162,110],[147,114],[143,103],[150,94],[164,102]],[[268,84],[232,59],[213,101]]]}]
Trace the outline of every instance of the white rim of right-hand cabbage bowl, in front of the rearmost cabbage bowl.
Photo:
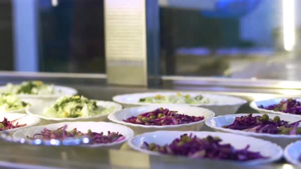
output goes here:
[{"label": "white rim of right-hand cabbage bowl, in front of the rearmost cabbage bowl", "polygon": [[[254,115],[255,113],[253,113]],[[248,132],[248,131],[241,131],[241,130],[235,130],[235,129],[229,129],[229,128],[223,128],[223,127],[217,127],[213,125],[213,121],[214,119],[220,118],[220,117],[224,117],[224,116],[234,116],[234,117],[239,117],[239,116],[246,116],[249,115],[248,113],[242,113],[242,114],[231,114],[231,115],[223,115],[223,116],[216,116],[213,117],[211,119],[207,119],[205,122],[205,125],[216,129],[216,130],[221,130],[224,132],[229,132],[229,133],[233,133],[233,134],[240,134],[240,135],[249,135],[249,136],[265,136],[265,137],[271,137],[271,138],[300,138],[301,139],[301,134],[300,135],[286,135],[286,134],[269,134],[269,133],[257,133],[257,132]],[[257,115],[262,115],[262,114],[257,114]],[[267,115],[271,115],[271,114],[267,114]],[[273,114],[275,115],[275,114]]]}]

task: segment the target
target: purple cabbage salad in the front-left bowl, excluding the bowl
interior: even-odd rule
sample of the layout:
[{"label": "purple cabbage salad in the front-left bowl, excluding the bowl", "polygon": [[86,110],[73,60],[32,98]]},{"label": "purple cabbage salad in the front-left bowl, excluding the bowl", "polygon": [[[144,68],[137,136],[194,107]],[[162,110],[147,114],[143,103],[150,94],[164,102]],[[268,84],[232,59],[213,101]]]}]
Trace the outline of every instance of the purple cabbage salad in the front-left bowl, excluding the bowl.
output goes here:
[{"label": "purple cabbage salad in the front-left bowl, excluding the bowl", "polygon": [[116,141],[124,140],[125,137],[118,133],[118,132],[107,132],[107,135],[104,135],[103,132],[92,132],[91,129],[88,129],[87,133],[83,133],[81,131],[78,131],[76,128],[73,128],[70,131],[66,130],[67,125],[63,127],[59,127],[55,130],[50,130],[47,128],[44,128],[41,133],[35,134],[33,137],[27,136],[30,139],[59,139],[63,140],[70,137],[88,137],[91,139],[91,142],[93,144],[99,144],[99,143],[112,143]]}]

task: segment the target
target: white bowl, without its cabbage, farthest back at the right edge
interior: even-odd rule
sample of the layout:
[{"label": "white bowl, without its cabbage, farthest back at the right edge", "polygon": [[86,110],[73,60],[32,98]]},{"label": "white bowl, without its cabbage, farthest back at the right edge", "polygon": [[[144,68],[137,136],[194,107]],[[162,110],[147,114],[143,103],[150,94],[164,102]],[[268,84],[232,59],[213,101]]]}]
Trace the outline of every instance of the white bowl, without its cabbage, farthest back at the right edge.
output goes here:
[{"label": "white bowl, without its cabbage, farthest back at the right edge", "polygon": [[[282,115],[290,114],[290,113],[283,113],[283,112],[278,112],[278,111],[274,111],[274,110],[266,110],[266,109],[259,108],[260,105],[266,107],[266,106],[270,106],[273,104],[278,104],[283,99],[286,100],[288,98],[276,98],[276,99],[257,100],[257,101],[255,100],[250,103],[250,106],[251,106],[251,108],[257,110],[259,113],[274,113],[274,114],[282,114]],[[296,98],[296,100],[301,102],[301,98]],[[293,115],[293,114],[290,114],[290,115]],[[301,115],[294,115],[294,116],[301,117]]]}]

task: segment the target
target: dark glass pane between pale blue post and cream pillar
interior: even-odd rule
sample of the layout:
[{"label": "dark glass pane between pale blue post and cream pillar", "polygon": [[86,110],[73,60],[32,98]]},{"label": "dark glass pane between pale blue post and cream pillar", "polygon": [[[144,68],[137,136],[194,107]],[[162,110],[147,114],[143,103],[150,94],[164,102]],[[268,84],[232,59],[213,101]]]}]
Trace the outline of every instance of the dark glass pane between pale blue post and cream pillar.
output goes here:
[{"label": "dark glass pane between pale blue post and cream pillar", "polygon": [[103,0],[39,0],[40,71],[104,73]]}]

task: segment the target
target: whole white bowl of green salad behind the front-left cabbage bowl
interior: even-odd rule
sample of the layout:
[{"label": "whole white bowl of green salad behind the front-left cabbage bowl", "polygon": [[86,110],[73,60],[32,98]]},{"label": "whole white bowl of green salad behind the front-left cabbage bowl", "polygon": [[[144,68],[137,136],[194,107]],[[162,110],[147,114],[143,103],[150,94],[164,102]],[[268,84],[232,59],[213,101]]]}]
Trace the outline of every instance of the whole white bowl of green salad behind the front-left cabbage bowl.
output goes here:
[{"label": "whole white bowl of green salad behind the front-left cabbage bowl", "polygon": [[26,109],[26,113],[50,122],[107,121],[107,115],[121,110],[120,104],[89,100],[83,96],[62,96],[55,102],[40,101]]}]

